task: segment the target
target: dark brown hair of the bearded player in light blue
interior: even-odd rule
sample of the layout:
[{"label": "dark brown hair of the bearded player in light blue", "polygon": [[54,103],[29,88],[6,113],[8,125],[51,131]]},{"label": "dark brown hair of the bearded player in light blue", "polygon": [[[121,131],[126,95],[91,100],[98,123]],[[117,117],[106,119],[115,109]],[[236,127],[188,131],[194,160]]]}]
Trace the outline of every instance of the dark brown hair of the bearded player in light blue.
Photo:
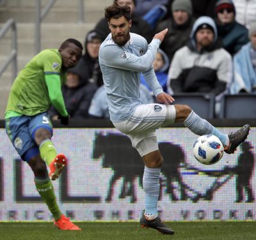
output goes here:
[{"label": "dark brown hair of the bearded player in light blue", "polygon": [[105,8],[105,19],[119,19],[120,17],[125,17],[127,21],[131,20],[131,8],[127,5],[119,6],[116,3],[113,3],[111,6]]}]

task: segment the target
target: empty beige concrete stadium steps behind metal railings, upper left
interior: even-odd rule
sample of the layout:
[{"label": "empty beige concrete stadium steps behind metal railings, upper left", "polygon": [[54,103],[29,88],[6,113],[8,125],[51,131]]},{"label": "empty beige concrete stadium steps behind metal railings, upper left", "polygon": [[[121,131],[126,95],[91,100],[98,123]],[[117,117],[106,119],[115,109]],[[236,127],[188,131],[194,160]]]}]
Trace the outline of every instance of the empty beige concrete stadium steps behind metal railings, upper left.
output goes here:
[{"label": "empty beige concrete stadium steps behind metal railings, upper left", "polygon": [[[40,1],[42,10],[49,1]],[[67,38],[76,38],[84,43],[86,33],[104,17],[104,7],[113,0],[84,0],[84,23],[78,22],[78,4],[80,1],[56,1],[45,16],[41,25],[41,49],[58,48]],[[17,23],[18,71],[35,55],[35,0],[0,0],[0,29],[8,19]],[[10,31],[11,33],[11,31]],[[10,36],[8,33],[0,44],[0,65],[10,54]],[[12,66],[0,79],[0,119],[4,111],[12,86]]]}]

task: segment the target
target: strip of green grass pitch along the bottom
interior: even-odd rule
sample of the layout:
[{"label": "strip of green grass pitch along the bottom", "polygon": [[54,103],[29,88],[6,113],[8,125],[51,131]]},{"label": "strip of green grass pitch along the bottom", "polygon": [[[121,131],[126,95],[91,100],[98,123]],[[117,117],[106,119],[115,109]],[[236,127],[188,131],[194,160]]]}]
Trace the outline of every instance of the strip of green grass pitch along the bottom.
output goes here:
[{"label": "strip of green grass pitch along the bottom", "polygon": [[172,221],[173,236],[141,229],[138,222],[76,222],[81,231],[63,231],[50,222],[1,222],[1,240],[255,240],[256,221]]}]

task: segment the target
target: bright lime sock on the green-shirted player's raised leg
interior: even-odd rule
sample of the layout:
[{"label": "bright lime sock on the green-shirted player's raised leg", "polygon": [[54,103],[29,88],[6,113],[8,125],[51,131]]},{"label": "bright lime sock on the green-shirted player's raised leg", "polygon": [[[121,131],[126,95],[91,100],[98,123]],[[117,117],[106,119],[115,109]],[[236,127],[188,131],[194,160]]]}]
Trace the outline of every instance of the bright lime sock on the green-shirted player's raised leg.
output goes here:
[{"label": "bright lime sock on the green-shirted player's raised leg", "polygon": [[56,148],[50,139],[44,140],[44,142],[40,144],[39,150],[42,160],[44,160],[48,166],[57,156]]}]

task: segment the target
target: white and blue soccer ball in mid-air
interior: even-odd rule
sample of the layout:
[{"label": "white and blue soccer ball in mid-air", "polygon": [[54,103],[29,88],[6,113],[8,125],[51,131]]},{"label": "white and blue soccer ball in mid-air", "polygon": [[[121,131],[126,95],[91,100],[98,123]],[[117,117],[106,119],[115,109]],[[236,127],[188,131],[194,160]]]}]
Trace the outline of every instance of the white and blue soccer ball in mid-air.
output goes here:
[{"label": "white and blue soccer ball in mid-air", "polygon": [[200,163],[211,165],[221,160],[224,147],[220,139],[215,135],[202,135],[196,139],[193,146],[193,154]]}]

